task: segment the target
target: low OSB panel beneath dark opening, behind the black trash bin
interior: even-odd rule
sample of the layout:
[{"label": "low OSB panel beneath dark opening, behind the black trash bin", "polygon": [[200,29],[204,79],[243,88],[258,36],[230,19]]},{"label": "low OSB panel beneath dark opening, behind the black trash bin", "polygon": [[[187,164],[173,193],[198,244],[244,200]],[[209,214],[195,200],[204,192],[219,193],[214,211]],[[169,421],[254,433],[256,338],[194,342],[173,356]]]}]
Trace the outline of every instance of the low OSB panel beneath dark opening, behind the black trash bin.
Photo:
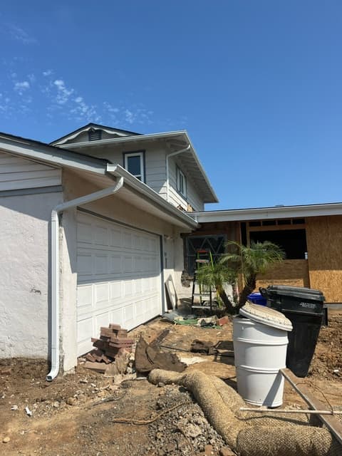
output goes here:
[{"label": "low OSB panel beneath dark opening, behind the black trash bin", "polygon": [[257,276],[257,290],[259,286],[267,288],[269,285],[310,286],[308,261],[286,259],[266,274]]}]

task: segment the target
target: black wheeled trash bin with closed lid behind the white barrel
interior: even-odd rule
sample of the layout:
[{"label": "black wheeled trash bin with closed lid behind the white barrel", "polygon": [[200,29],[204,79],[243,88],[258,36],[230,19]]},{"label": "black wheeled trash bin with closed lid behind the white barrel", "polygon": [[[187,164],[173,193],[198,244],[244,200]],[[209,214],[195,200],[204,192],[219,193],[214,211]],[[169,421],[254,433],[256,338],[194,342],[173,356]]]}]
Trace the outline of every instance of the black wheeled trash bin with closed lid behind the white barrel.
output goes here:
[{"label": "black wheeled trash bin with closed lid behind the white barrel", "polygon": [[293,330],[288,333],[286,366],[297,377],[306,377],[325,314],[323,294],[284,285],[272,285],[259,291],[267,299],[267,306],[281,311],[291,321]]}]

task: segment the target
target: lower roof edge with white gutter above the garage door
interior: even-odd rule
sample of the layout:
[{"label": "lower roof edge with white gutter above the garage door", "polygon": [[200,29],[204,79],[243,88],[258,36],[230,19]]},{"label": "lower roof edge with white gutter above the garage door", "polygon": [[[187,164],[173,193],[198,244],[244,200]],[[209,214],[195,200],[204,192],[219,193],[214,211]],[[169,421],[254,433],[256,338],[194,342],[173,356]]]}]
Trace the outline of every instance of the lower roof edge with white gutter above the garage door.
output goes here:
[{"label": "lower roof edge with white gutter above the garage door", "polygon": [[28,160],[49,163],[51,165],[67,167],[81,172],[86,178],[97,178],[102,186],[113,185],[117,177],[124,178],[125,198],[135,199],[139,207],[144,207],[146,212],[155,214],[156,217],[165,219],[182,229],[195,229],[197,222],[187,213],[167,202],[150,187],[136,179],[130,172],[119,165],[113,165],[108,160],[103,160],[88,155],[71,152],[44,142],[21,138],[20,136],[0,133],[0,150],[11,155],[19,155]]}]

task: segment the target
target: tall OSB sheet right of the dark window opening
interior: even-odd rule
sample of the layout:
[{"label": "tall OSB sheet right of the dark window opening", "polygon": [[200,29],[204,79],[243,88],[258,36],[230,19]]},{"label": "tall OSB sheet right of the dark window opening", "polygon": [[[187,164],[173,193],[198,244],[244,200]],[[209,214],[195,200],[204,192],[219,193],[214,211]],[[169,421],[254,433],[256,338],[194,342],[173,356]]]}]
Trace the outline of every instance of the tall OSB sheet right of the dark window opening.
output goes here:
[{"label": "tall OSB sheet right of the dark window opening", "polygon": [[342,216],[306,219],[311,288],[327,302],[342,302]]}]

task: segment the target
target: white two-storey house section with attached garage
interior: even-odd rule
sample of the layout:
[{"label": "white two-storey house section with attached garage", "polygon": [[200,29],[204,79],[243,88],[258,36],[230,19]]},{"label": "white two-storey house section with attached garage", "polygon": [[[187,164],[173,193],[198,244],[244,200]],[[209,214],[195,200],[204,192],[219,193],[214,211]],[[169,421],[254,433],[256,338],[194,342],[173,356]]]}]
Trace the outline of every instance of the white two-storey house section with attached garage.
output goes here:
[{"label": "white two-storey house section with attached garage", "polygon": [[133,328],[180,282],[180,234],[217,197],[185,131],[89,124],[50,145],[0,134],[0,358],[71,371],[101,326]]}]

